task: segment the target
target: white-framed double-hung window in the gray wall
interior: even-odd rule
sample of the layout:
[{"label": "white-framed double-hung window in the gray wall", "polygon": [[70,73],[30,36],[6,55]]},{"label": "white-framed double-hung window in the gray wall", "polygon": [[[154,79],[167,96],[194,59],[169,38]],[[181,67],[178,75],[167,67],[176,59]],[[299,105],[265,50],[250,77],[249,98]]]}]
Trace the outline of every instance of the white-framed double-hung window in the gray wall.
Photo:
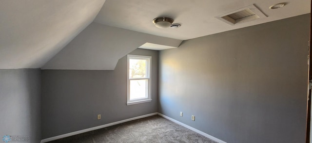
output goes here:
[{"label": "white-framed double-hung window in the gray wall", "polygon": [[127,105],[150,102],[151,56],[128,55]]}]

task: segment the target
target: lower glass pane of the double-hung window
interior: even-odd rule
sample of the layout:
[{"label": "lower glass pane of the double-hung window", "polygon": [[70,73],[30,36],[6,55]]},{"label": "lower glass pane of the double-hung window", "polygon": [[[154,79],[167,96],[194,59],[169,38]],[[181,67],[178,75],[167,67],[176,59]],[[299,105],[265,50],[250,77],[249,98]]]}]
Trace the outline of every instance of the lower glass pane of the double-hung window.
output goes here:
[{"label": "lower glass pane of the double-hung window", "polygon": [[130,80],[130,100],[138,98],[147,98],[148,79],[131,79]]}]

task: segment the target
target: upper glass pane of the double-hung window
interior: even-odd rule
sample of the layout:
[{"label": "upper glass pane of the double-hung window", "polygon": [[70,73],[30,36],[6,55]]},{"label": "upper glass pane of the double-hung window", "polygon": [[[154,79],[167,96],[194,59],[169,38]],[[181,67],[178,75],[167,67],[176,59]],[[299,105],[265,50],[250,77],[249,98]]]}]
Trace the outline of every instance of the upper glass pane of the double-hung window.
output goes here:
[{"label": "upper glass pane of the double-hung window", "polygon": [[146,78],[147,59],[129,59],[129,77]]}]

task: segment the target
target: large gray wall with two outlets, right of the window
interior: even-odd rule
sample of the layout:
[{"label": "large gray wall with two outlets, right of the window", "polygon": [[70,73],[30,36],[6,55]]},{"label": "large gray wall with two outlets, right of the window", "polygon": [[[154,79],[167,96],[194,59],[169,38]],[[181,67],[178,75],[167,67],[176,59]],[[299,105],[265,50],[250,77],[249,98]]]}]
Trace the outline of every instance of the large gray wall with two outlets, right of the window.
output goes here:
[{"label": "large gray wall with two outlets, right of the window", "polygon": [[309,16],[161,51],[158,111],[228,143],[304,143]]}]

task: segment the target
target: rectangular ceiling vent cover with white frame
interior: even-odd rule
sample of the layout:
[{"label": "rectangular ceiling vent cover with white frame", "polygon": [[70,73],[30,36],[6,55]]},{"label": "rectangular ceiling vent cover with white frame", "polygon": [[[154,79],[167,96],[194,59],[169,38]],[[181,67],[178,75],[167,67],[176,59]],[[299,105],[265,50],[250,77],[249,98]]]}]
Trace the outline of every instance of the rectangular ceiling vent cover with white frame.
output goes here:
[{"label": "rectangular ceiling vent cover with white frame", "polygon": [[248,21],[252,21],[258,18],[267,17],[264,15],[255,5],[249,5],[244,8],[240,8],[230,13],[226,13],[220,16],[215,16],[215,18],[230,24],[236,25]]}]

